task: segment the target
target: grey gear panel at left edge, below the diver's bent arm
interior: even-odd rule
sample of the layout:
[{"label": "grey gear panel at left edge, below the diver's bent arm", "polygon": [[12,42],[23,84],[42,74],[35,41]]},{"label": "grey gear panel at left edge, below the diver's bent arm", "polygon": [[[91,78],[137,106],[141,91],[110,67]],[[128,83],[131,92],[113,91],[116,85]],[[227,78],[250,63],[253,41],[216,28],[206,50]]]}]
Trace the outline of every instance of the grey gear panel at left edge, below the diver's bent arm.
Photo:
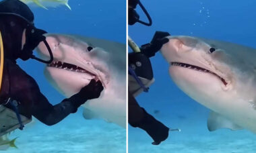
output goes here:
[{"label": "grey gear panel at left edge, below the diver's bent arm", "polygon": [[[23,115],[20,115],[22,123],[25,125],[29,123],[32,119],[28,119]],[[20,127],[17,115],[11,109],[0,105],[0,137],[16,130]]]}]

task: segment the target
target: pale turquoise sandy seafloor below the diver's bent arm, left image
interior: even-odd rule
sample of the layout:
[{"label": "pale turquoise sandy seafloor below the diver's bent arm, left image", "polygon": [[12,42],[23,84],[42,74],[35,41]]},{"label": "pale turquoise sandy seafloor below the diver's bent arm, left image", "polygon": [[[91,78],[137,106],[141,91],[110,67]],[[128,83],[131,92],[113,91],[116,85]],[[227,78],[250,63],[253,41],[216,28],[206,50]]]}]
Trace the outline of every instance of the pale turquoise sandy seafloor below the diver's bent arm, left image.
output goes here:
[{"label": "pale turquoise sandy seafloor below the diver's bent arm, left image", "polygon": [[82,153],[125,152],[125,129],[102,120],[85,120],[82,111],[51,127],[36,120],[23,130],[16,130],[18,149],[8,153]]}]

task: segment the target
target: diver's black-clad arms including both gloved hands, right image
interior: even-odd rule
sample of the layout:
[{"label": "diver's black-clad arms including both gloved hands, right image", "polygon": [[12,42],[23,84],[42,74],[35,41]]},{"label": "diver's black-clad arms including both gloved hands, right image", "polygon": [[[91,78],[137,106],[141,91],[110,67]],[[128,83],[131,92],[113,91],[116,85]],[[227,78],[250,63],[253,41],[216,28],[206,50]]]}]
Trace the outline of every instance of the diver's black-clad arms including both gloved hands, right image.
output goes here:
[{"label": "diver's black-clad arms including both gloved hands, right image", "polygon": [[[129,66],[135,66],[134,72],[137,77],[149,81],[153,79],[150,58],[162,48],[163,44],[168,42],[168,39],[165,38],[166,36],[170,36],[170,34],[167,32],[156,32],[149,44],[141,46],[141,52],[129,53]],[[140,66],[136,66],[136,62],[139,62]],[[133,93],[130,92],[128,97],[128,111],[129,124],[133,127],[139,127],[145,130],[154,140],[153,144],[160,144],[168,138],[169,128],[150,115],[143,107],[140,107],[135,97],[133,97]]]}]

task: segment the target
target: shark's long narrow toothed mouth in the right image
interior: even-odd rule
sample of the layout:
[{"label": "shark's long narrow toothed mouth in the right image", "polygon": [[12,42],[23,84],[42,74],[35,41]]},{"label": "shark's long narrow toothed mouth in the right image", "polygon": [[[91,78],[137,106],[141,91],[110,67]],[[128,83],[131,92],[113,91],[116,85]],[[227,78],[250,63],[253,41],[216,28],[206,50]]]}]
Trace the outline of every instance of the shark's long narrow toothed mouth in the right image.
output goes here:
[{"label": "shark's long narrow toothed mouth in the right image", "polygon": [[210,70],[206,70],[205,68],[201,68],[199,66],[195,66],[195,65],[191,65],[191,64],[186,64],[186,63],[183,63],[183,62],[170,62],[170,64],[172,66],[181,66],[181,67],[184,67],[184,68],[190,68],[192,70],[198,70],[198,71],[201,71],[201,72],[207,72],[207,73],[211,73],[211,74],[214,74],[216,75],[218,78],[220,78],[220,80],[222,81],[222,83],[226,86],[228,85],[228,83],[226,83],[225,79],[223,79],[222,77],[220,77],[218,74],[210,71]]}]

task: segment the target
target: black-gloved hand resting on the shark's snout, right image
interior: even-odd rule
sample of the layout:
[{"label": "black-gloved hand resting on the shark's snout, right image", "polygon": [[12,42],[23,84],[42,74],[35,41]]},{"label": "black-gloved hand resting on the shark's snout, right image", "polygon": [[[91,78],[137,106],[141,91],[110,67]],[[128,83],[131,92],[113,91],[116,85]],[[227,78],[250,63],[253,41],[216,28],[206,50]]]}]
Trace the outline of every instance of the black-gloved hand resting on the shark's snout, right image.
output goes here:
[{"label": "black-gloved hand resting on the shark's snout, right image", "polygon": [[156,32],[150,43],[141,46],[141,52],[148,58],[155,56],[156,52],[169,41],[166,36],[170,36],[170,34],[168,32]]}]

